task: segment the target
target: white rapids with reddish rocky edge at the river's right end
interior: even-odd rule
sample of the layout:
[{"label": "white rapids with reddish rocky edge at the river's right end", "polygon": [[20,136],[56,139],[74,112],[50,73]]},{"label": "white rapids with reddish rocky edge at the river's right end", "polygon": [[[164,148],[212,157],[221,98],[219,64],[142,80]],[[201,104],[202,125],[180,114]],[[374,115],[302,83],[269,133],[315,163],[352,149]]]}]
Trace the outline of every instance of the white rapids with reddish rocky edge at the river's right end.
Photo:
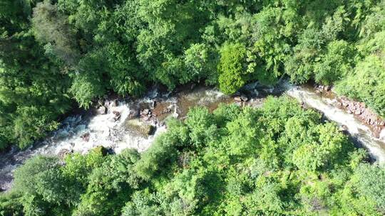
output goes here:
[{"label": "white rapids with reddish rocky edge at the river's right end", "polygon": [[[353,105],[357,102],[350,102],[350,108],[342,104],[343,98],[337,97],[332,92],[332,89],[328,87],[328,90],[319,90],[318,87],[312,85],[294,86],[287,85],[286,94],[296,98],[299,102],[302,102],[304,107],[317,109],[322,112],[324,119],[328,121],[334,121],[342,131],[345,131],[350,135],[351,141],[357,146],[366,148],[373,161],[379,163],[385,163],[385,129],[381,129],[380,132],[376,131],[377,124],[381,120],[377,120],[376,124],[366,124],[367,118],[362,115],[364,112],[370,112],[366,107],[361,111],[361,114],[354,114],[351,109],[359,106]],[[379,119],[379,117],[373,117]],[[378,129],[377,129],[378,130]]]}]

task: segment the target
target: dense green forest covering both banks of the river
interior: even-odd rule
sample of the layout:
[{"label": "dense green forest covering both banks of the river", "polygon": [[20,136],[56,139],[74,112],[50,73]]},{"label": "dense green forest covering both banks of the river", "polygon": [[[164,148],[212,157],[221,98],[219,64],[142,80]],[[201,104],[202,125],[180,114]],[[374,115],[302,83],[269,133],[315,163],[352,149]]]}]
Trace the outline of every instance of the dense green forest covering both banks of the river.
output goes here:
[{"label": "dense green forest covering both banks of the river", "polygon": [[[0,151],[113,92],[332,85],[385,117],[385,0],[0,0]],[[0,215],[384,215],[385,168],[287,97],[191,109],[144,153],[36,156]]]}]

